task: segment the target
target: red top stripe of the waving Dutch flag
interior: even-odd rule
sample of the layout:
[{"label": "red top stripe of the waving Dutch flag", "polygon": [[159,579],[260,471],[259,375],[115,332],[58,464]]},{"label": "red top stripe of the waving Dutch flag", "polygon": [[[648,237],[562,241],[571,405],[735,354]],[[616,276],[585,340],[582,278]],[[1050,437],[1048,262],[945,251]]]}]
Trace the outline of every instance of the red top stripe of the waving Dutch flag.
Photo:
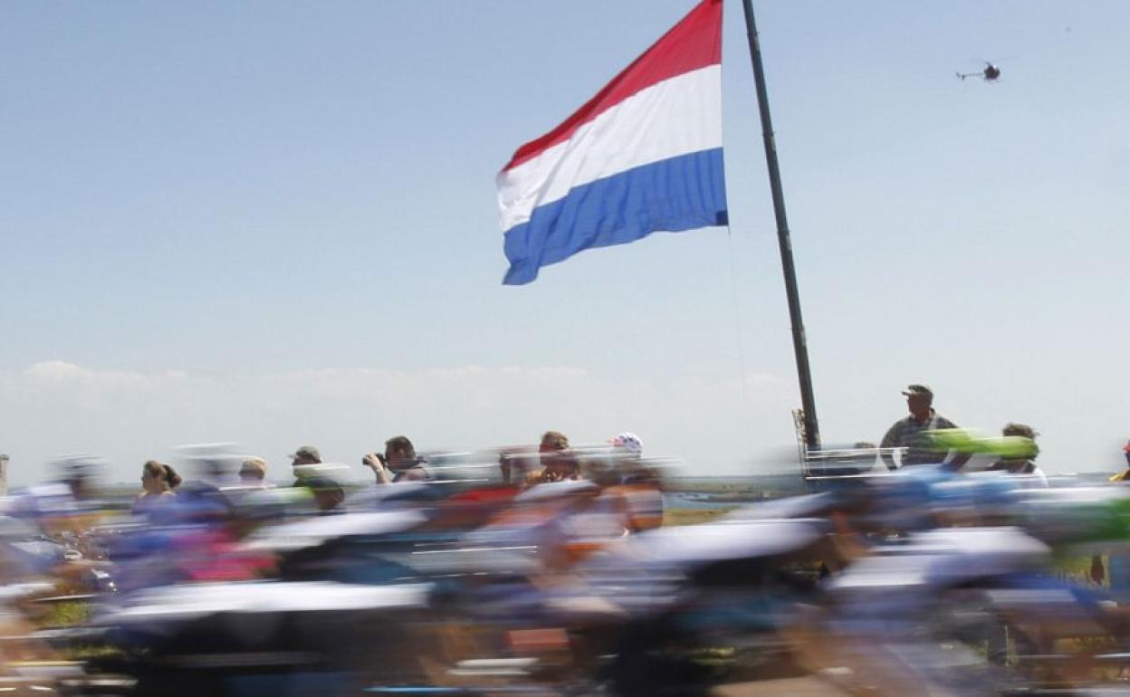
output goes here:
[{"label": "red top stripe of the waving Dutch flag", "polygon": [[692,70],[722,62],[722,0],[703,0],[597,96],[560,125],[520,147],[503,172],[564,142],[601,112],[637,92]]}]

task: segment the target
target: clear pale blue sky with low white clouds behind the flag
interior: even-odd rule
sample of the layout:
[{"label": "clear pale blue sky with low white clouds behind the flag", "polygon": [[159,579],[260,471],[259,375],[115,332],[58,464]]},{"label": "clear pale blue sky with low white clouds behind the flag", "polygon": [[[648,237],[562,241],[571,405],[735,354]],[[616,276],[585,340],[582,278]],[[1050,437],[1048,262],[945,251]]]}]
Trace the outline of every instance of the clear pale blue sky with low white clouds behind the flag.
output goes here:
[{"label": "clear pale blue sky with low white clouds behind the flag", "polygon": [[[741,7],[731,228],[503,287],[494,175],[686,0],[0,6],[0,452],[238,441],[356,465],[637,432],[783,467],[799,397]],[[1122,2],[757,2],[826,441],[927,382],[1050,471],[1130,436]],[[962,82],[981,60],[999,84]],[[358,469],[359,468],[356,468]],[[359,471],[358,471],[359,476]]]}]

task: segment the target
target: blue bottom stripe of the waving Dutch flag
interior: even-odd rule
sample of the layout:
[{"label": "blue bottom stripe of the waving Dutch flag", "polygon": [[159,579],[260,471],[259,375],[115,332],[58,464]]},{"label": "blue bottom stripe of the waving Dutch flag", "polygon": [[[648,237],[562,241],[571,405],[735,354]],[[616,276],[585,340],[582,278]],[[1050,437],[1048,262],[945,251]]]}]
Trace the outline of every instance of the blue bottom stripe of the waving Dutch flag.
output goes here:
[{"label": "blue bottom stripe of the waving Dutch flag", "polygon": [[577,186],[506,230],[510,270],[502,282],[528,284],[541,267],[581,250],[727,221],[722,148],[642,165]]}]

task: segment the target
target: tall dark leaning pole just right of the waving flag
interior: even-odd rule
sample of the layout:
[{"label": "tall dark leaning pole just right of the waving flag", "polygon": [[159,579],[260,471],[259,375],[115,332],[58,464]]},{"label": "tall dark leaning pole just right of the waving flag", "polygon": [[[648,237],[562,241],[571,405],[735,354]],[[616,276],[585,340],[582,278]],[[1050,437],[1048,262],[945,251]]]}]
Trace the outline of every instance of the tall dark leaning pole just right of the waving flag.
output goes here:
[{"label": "tall dark leaning pole just right of the waving flag", "polygon": [[773,214],[776,216],[777,243],[781,246],[781,267],[784,270],[784,289],[789,297],[789,319],[792,321],[792,348],[797,355],[797,375],[800,378],[800,403],[805,418],[805,443],[809,448],[820,445],[820,428],[816,420],[816,400],[812,398],[812,375],[808,368],[808,345],[805,341],[805,321],[800,316],[800,294],[797,291],[797,270],[792,264],[792,242],[789,221],[784,215],[784,191],[781,169],[776,160],[776,141],[773,120],[770,117],[770,96],[765,89],[765,67],[754,21],[753,0],[742,0],[746,10],[746,31],[749,36],[749,58],[754,61],[754,80],[757,82],[757,106],[762,113],[762,134],[765,139],[765,164],[770,169],[770,189],[773,191]]}]

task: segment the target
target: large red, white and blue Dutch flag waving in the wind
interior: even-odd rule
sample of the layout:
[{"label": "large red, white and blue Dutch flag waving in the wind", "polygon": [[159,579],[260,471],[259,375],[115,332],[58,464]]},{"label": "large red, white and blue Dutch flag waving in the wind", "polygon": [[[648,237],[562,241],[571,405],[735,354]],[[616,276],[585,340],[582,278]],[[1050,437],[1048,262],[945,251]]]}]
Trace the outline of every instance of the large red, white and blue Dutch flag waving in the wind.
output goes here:
[{"label": "large red, white and blue Dutch flag waving in the wind", "polygon": [[497,177],[507,285],[581,250],[727,224],[722,0],[703,0]]}]

